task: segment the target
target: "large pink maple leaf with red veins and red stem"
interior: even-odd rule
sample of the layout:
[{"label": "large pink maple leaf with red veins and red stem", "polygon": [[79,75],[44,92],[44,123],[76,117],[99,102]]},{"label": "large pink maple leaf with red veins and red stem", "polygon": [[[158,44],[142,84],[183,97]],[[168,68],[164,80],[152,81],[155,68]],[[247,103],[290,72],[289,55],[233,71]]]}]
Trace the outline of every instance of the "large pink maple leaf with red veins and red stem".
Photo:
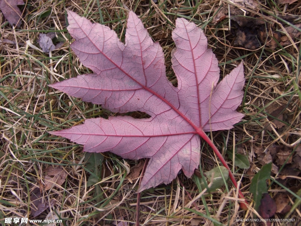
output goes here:
[{"label": "large pink maple leaf with red veins and red stem", "polygon": [[[199,165],[199,136],[228,167],[204,131],[230,129],[243,117],[236,111],[245,81],[242,63],[217,84],[218,61],[207,49],[203,31],[178,18],[172,32],[177,46],[172,52],[178,79],[178,87],[174,87],[166,78],[162,48],[132,11],[125,45],[110,28],[92,24],[74,12],[68,11],[68,22],[67,29],[75,39],[71,48],[94,74],[79,75],[51,87],[113,112],[142,111],[151,118],[92,118],[49,133],[83,144],[87,152],[149,158],[138,192],[170,183],[180,169],[191,177]],[[233,175],[230,177],[236,186]]]}]

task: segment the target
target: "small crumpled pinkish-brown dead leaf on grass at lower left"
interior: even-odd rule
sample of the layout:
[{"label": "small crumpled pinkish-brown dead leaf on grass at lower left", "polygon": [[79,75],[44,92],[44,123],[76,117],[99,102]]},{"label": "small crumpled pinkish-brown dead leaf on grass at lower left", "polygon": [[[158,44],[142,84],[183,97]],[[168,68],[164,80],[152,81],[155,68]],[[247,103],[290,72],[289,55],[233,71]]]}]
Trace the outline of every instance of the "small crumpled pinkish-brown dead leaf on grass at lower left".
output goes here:
[{"label": "small crumpled pinkish-brown dead leaf on grass at lower left", "polygon": [[67,177],[67,173],[61,166],[57,168],[53,168],[49,166],[45,169],[47,175],[45,176],[44,183],[45,183],[45,190],[49,190],[54,185],[62,185]]}]

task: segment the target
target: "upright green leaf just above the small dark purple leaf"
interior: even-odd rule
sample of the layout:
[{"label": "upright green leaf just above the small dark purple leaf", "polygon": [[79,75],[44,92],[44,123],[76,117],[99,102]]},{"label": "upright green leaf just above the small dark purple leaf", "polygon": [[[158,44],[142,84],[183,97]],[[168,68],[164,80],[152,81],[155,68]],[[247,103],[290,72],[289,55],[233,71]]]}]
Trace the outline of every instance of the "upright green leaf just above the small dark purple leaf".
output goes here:
[{"label": "upright green leaf just above the small dark purple leaf", "polygon": [[261,196],[263,193],[268,193],[266,180],[271,177],[272,162],[262,166],[257,174],[253,177],[250,184],[250,192],[253,194],[255,202],[255,209],[258,210],[260,205]]}]

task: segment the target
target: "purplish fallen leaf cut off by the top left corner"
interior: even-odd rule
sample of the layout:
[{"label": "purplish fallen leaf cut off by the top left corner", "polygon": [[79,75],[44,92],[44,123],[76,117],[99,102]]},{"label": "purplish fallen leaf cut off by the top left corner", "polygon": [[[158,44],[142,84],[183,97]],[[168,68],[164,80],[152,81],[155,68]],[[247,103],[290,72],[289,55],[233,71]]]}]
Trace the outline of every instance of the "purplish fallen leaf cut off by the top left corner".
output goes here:
[{"label": "purplish fallen leaf cut off by the top left corner", "polygon": [[0,0],[0,9],[9,24],[19,27],[22,24],[21,11],[17,5],[24,5],[23,0]]}]

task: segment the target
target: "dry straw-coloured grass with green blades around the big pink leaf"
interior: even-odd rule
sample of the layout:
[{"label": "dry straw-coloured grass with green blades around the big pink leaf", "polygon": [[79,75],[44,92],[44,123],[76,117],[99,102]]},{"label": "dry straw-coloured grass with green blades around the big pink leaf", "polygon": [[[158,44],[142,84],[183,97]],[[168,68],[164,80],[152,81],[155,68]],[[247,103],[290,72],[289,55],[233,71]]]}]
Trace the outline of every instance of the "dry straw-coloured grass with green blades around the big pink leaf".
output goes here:
[{"label": "dry straw-coloured grass with green blades around the big pink leaf", "polygon": [[[81,99],[48,87],[50,83],[91,72],[82,66],[69,47],[72,38],[66,30],[66,8],[85,15],[89,20],[109,26],[116,31],[121,40],[124,40],[128,9],[134,10],[143,20],[151,37],[163,47],[166,72],[173,84],[176,84],[176,79],[171,69],[170,53],[174,47],[171,31],[176,15],[190,18],[204,29],[209,47],[220,62],[221,76],[228,74],[240,59],[244,60],[245,96],[239,108],[239,111],[245,114],[244,120],[232,130],[213,133],[213,139],[216,146],[225,152],[226,149],[233,149],[235,133],[236,147],[247,152],[251,170],[236,167],[234,171],[237,180],[241,180],[244,195],[250,204],[254,205],[249,193],[250,177],[259,171],[261,164],[256,159],[253,148],[261,145],[264,148],[273,145],[291,147],[292,144],[295,146],[300,142],[300,40],[292,39],[290,45],[278,45],[276,49],[269,48],[267,43],[256,50],[235,47],[235,37],[232,33],[236,30],[233,25],[235,23],[231,22],[231,31],[228,30],[228,20],[211,23],[214,10],[219,4],[220,1],[216,0],[197,0],[192,2],[191,6],[188,1],[180,0],[160,0],[159,4],[134,0],[33,0],[26,4],[23,24],[19,29],[13,29],[3,16],[0,17],[1,40],[6,38],[17,43],[2,43],[0,46],[2,225],[3,219],[10,216],[33,219],[30,215],[29,197],[36,187],[41,188],[44,202],[55,200],[54,206],[36,219],[45,219],[46,215],[54,218],[58,215],[63,219],[61,225],[117,224],[121,222],[120,219],[128,225],[135,224],[135,190],[139,181],[131,183],[126,177],[126,170],[128,166],[134,166],[138,162],[124,162],[118,156],[104,153],[104,161],[100,168],[100,186],[87,186],[91,171],[83,164],[85,153],[82,152],[82,146],[47,133],[47,130],[82,123],[86,118],[113,115],[99,105],[82,102]],[[268,4],[261,4],[258,14],[263,15],[266,24],[273,21],[278,30],[284,24],[271,14],[301,16],[300,1],[291,5],[280,5],[273,1]],[[296,21],[299,20],[300,18]],[[64,45],[53,51],[51,56],[33,48],[39,47],[38,34],[49,30],[57,30],[57,40],[64,41]],[[285,127],[281,131],[277,128],[273,128],[271,132],[264,130],[267,113],[271,113],[280,105],[287,105]],[[133,116],[143,117],[139,113]],[[204,171],[217,165],[213,152],[206,145],[202,147],[202,157],[201,168]],[[45,191],[44,171],[50,165],[61,165],[68,176],[61,186],[54,186]],[[283,168],[284,166],[278,168],[278,171],[281,172]],[[279,179],[278,174],[272,175],[272,179]],[[300,177],[286,176],[286,180],[278,180],[280,183],[269,180],[268,191],[272,197],[300,185]],[[237,193],[229,182],[216,192],[205,193],[200,199],[191,202],[200,192],[198,186],[183,174],[179,174],[167,186],[161,185],[145,191],[141,195],[141,225],[194,225],[193,222],[212,225],[212,221],[215,221],[216,225],[218,222],[220,225],[250,224],[236,222],[237,218],[253,217],[254,211],[252,206],[246,212],[239,209]],[[277,213],[275,218],[294,218],[295,222],[300,223],[300,199],[294,196],[289,199],[289,205],[297,205],[287,216]],[[187,204],[189,210],[183,209]]]}]

